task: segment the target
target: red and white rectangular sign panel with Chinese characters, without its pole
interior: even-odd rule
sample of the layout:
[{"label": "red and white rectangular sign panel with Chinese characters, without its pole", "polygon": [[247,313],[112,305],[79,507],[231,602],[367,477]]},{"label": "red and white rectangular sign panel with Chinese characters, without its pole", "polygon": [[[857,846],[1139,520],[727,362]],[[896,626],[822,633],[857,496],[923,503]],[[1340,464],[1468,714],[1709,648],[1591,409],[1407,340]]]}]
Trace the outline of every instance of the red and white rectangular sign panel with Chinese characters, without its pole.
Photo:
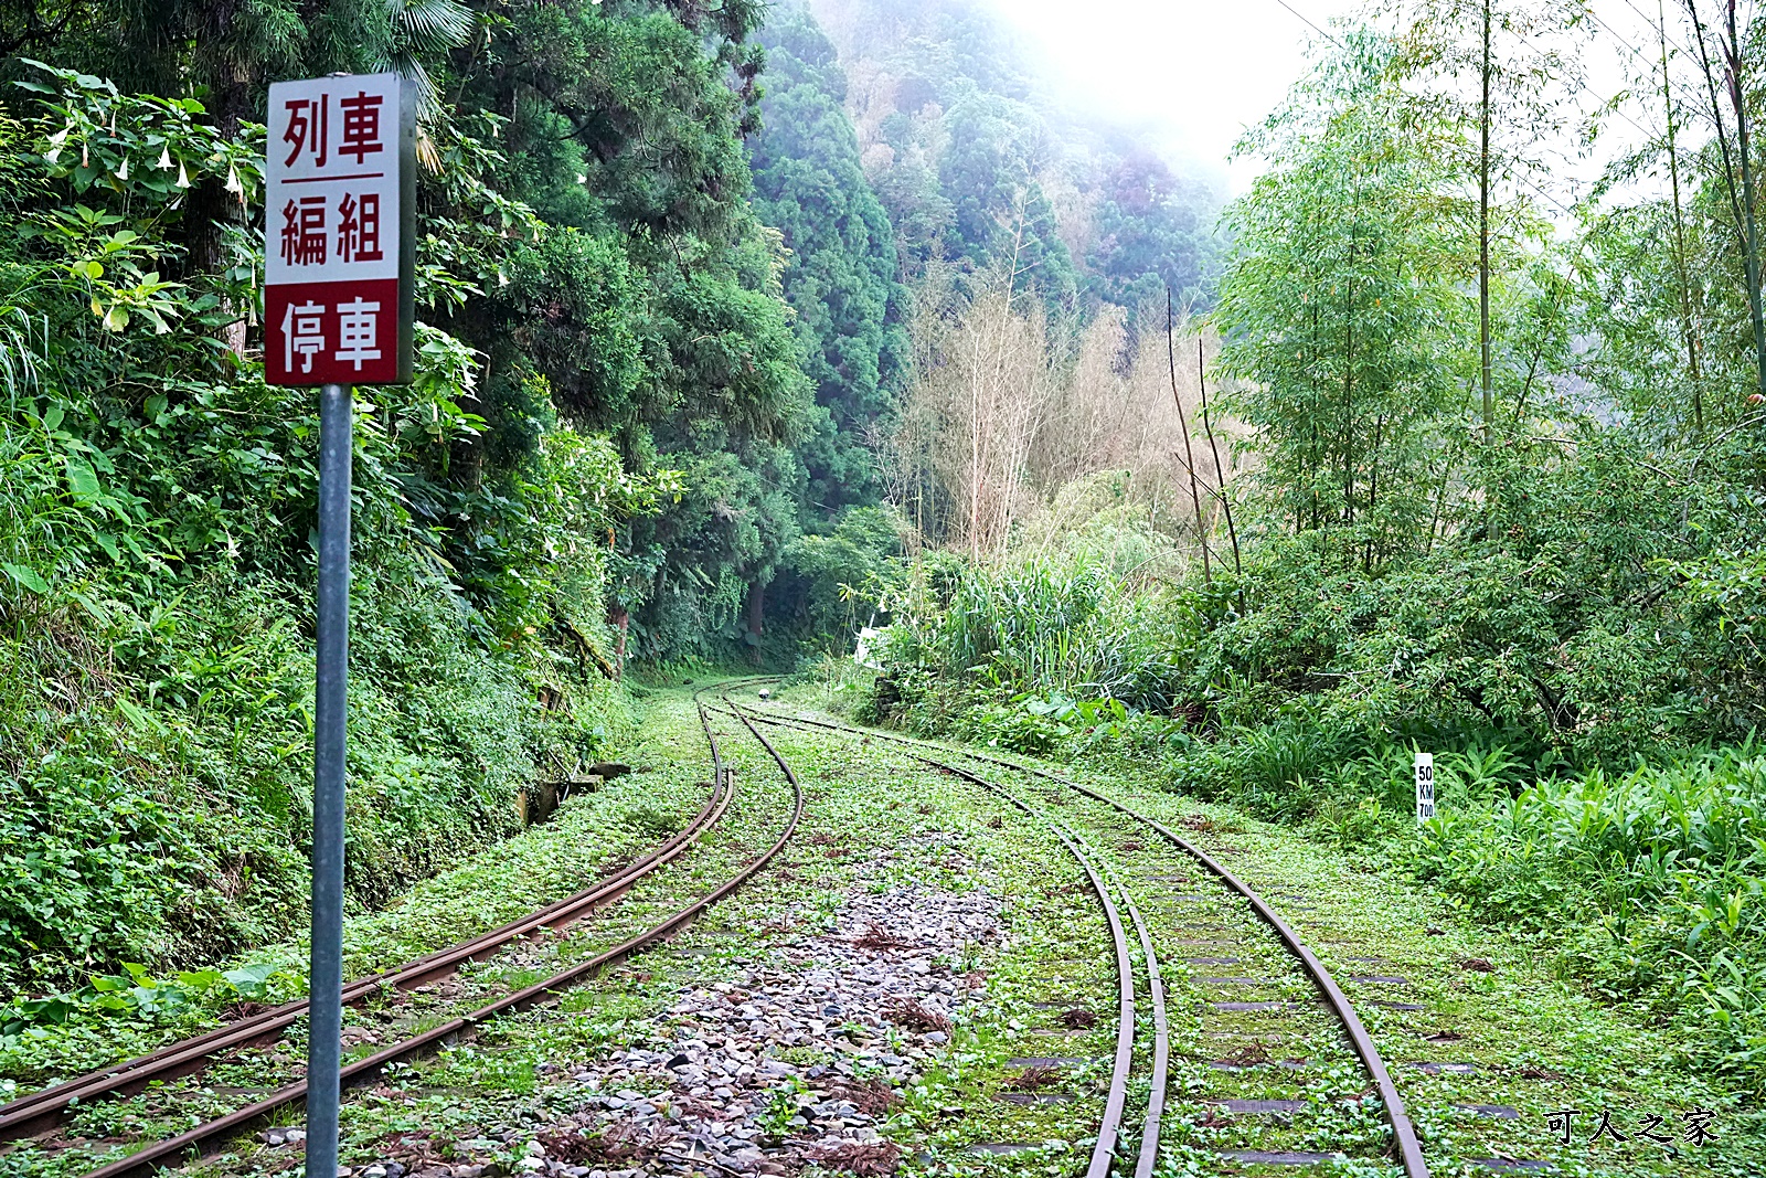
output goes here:
[{"label": "red and white rectangular sign panel with Chinese characters, without its pole", "polygon": [[408,90],[397,74],[270,87],[263,367],[272,385],[410,380]]}]

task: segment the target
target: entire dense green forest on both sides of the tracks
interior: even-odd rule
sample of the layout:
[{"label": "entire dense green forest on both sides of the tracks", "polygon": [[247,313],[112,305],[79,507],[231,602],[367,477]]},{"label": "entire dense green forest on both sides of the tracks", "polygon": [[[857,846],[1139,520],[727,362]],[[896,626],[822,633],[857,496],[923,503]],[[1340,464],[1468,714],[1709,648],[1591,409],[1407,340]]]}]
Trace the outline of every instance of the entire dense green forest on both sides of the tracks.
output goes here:
[{"label": "entire dense green forest on both sides of the tracks", "polygon": [[616,751],[632,678],[812,669],[1402,864],[1757,1083],[1766,18],[1718,7],[1596,104],[1591,9],[1374,5],[1224,203],[961,0],[9,5],[0,1035],[300,925],[316,408],[263,383],[258,120],[396,69],[351,902]]}]

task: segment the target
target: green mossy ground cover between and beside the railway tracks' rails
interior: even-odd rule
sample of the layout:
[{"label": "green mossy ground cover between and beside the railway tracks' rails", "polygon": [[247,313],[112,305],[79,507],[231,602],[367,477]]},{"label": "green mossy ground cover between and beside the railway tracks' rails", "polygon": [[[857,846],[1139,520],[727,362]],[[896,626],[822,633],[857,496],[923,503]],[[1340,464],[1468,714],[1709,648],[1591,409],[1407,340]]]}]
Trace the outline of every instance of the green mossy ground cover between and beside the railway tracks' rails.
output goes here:
[{"label": "green mossy ground cover between and beside the railway tracks' rails", "polygon": [[[740,689],[736,698],[782,714],[826,705],[814,687],[766,703],[752,689]],[[652,772],[579,797],[551,823],[420,885],[387,911],[353,920],[353,963],[378,968],[491,927],[570,890],[583,872],[592,874],[646,839],[662,837],[659,832],[671,821],[685,821],[701,797],[694,782],[706,763],[691,694],[655,691],[639,708],[643,744],[629,758]],[[736,768],[738,804],[701,850],[569,936],[482,963],[459,978],[456,994],[378,1003],[353,1016],[357,1049],[438,1019],[457,1001],[599,952],[708,892],[758,853],[784,823],[789,791],[751,736],[728,717],[717,726]],[[952,978],[975,978],[980,993],[980,1001],[962,1007],[948,1042],[890,1031],[890,1042],[899,1044],[894,1049],[913,1069],[911,1083],[901,1086],[904,1100],[878,1118],[883,1137],[901,1146],[901,1173],[1083,1173],[1104,1107],[1116,973],[1107,927],[1077,862],[1037,818],[966,781],[906,761],[879,736],[765,731],[807,793],[804,827],[781,858],[673,941],[555,1005],[487,1023],[442,1054],[355,1091],[344,1107],[343,1152],[355,1174],[378,1178],[367,1173],[373,1166],[413,1153],[431,1169],[456,1174],[473,1167],[480,1174],[530,1173],[523,1162],[532,1157],[530,1143],[547,1139],[551,1129],[579,1114],[585,1069],[623,1049],[673,1042],[683,996],[759,968],[784,968],[781,963],[793,954],[826,943],[855,897],[892,888],[940,895],[982,890],[1000,913],[998,936],[938,963]],[[1051,768],[1181,828],[1302,933],[1356,1001],[1434,1173],[1761,1173],[1766,1118],[1745,1093],[1690,1070],[1671,1031],[1596,1003],[1542,968],[1522,941],[1466,920],[1448,901],[1395,871],[1252,821],[1227,805],[1166,793],[1134,770],[1102,763]],[[1227,897],[1174,848],[1097,804],[1010,770],[985,774],[1077,832],[1123,880],[1150,925],[1171,991],[1162,1174],[1293,1173],[1245,1155],[1257,1150],[1323,1153],[1328,1160],[1317,1162],[1319,1173],[1395,1173],[1381,1157],[1386,1130],[1377,1106],[1358,1102],[1369,1088],[1365,1072],[1241,901]],[[298,957],[295,945],[281,952],[290,961]],[[1074,1026],[1070,1010],[1098,1019],[1084,1026],[1081,1017]],[[1118,1164],[1121,1171],[1132,1166],[1146,1097],[1151,1021],[1144,987],[1139,1016],[1123,1123],[1123,1157],[1130,1160]],[[88,1026],[67,1042],[74,1044],[71,1051],[85,1053],[81,1058],[97,1058],[106,1047],[125,1054],[152,1042],[154,1033]],[[795,1093],[811,1083],[802,1079],[804,1069],[848,1051],[853,1040],[842,1037],[851,1033],[830,1026],[826,1044],[763,1046],[761,1054],[795,1069],[779,1081],[781,1091]],[[290,1035],[177,1091],[94,1107],[81,1121],[90,1141],[62,1152],[16,1150],[0,1157],[0,1174],[81,1173],[78,1160],[94,1150],[187,1125],[194,1114],[274,1083],[300,1054],[300,1037]],[[1037,1060],[1051,1060],[1053,1072],[1026,1083]],[[1234,1111],[1226,1100],[1273,1104],[1270,1111]],[[1568,1109],[1577,1113],[1565,1141]],[[1604,1123],[1607,1132],[1589,1141]],[[1699,1127],[1702,1141],[1695,1141]],[[1667,1141],[1651,1141],[1646,1132]],[[298,1164],[298,1146],[254,1137],[196,1162],[191,1173],[295,1173]],[[805,1164],[818,1166],[798,1152],[795,1166]],[[664,1160],[652,1166],[692,1169]],[[722,1173],[710,1166],[703,1171]],[[422,1171],[411,1166],[411,1173]]]}]

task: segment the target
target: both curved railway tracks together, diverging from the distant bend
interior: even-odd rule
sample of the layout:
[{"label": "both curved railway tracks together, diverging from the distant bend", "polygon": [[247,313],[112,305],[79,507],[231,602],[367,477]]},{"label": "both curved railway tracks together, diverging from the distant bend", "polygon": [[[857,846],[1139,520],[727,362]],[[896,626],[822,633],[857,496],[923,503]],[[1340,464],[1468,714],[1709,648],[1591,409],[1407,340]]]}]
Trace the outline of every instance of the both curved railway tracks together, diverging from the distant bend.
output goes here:
[{"label": "both curved railway tracks together, diverging from the distant bend", "polygon": [[[768,678],[751,678],[738,685],[756,685],[768,682]],[[1275,936],[1280,940],[1282,947],[1300,963],[1305,975],[1310,978],[1312,985],[1323,996],[1324,1003],[1330,1007],[1342,1030],[1346,1031],[1349,1044],[1355,1049],[1362,1067],[1372,1079],[1372,1090],[1379,1095],[1385,1118],[1392,1130],[1392,1148],[1397,1155],[1408,1178],[1427,1178],[1429,1167],[1422,1157],[1422,1148],[1416,1141],[1415,1129],[1404,1111],[1404,1104],[1392,1084],[1390,1074],[1386,1072],[1385,1061],[1381,1060],[1377,1049],[1362,1026],[1353,1005],[1347,1001],[1344,993],[1337,987],[1335,980],[1330,977],[1326,968],[1319,959],[1300,941],[1294,931],[1264,902],[1252,888],[1233,876],[1224,865],[1220,865],[1206,851],[1183,839],[1173,832],[1164,823],[1125,805],[1123,802],[1111,798],[1100,791],[1095,791],[1081,782],[1051,774],[1044,768],[1026,765],[1021,761],[1012,761],[1008,758],[989,756],[982,752],[971,752],[966,749],[952,749],[932,742],[913,740],[908,736],[899,736],[894,733],[860,729],[848,724],[819,721],[802,715],[784,715],[772,710],[752,708],[747,705],[736,705],[728,698],[728,692],[736,685],[724,685],[719,691],[719,701],[722,706],[708,708],[703,694],[696,692],[696,705],[699,714],[699,724],[705,733],[706,744],[712,754],[712,784],[710,795],[705,805],[692,818],[692,821],[676,835],[657,846],[650,855],[630,864],[615,878],[599,883],[593,888],[586,888],[570,897],[547,904],[528,917],[509,922],[500,929],[493,929],[477,938],[454,945],[447,950],[419,957],[397,970],[390,970],[371,978],[362,978],[351,982],[344,991],[344,1000],[364,1000],[369,994],[381,991],[383,987],[413,989],[424,985],[434,978],[454,973],[470,961],[482,961],[500,952],[502,948],[512,945],[521,938],[539,934],[544,929],[562,929],[583,917],[593,913],[599,908],[616,902],[625,895],[639,880],[657,871],[668,862],[673,862],[698,839],[715,827],[719,819],[728,812],[733,804],[736,788],[733,781],[733,770],[724,763],[724,752],[719,745],[719,736],[713,731],[708,712],[715,710],[729,715],[749,735],[765,749],[772,761],[779,766],[784,775],[786,784],[789,784],[793,793],[793,805],[784,828],[777,839],[759,855],[745,862],[740,871],[724,880],[717,888],[701,895],[699,899],[685,904],[683,908],[673,911],[659,924],[646,927],[645,931],[630,936],[629,940],[615,945],[586,961],[572,964],[570,968],[542,980],[525,989],[502,994],[494,1001],[489,1001],[468,1014],[452,1017],[440,1026],[433,1026],[419,1035],[411,1035],[396,1044],[381,1047],[374,1054],[346,1063],[343,1070],[343,1081],[346,1086],[360,1084],[380,1076],[381,1069],[387,1065],[406,1060],[426,1051],[433,1051],[463,1033],[470,1033],[477,1024],[494,1019],[503,1014],[512,1014],[526,1010],[539,1003],[553,1000],[563,989],[577,985],[593,975],[600,973],[611,964],[630,957],[641,948],[673,936],[687,924],[691,924],[698,915],[717,904],[721,899],[740,888],[747,880],[759,872],[772,858],[786,846],[786,842],[795,834],[798,821],[804,814],[805,795],[793,772],[788,759],[781,751],[766,738],[761,726],[775,728],[796,728],[796,729],[823,729],[841,733],[844,736],[865,736],[895,745],[897,754],[904,759],[915,761],[929,770],[950,774],[964,782],[970,782],[987,793],[998,797],[1010,807],[1021,811],[1038,825],[1042,825],[1061,846],[1074,857],[1079,864],[1083,874],[1086,876],[1091,892],[1095,894],[1106,922],[1109,925],[1116,978],[1118,978],[1118,1024],[1116,1024],[1116,1051],[1111,1069],[1111,1083],[1106,1097],[1104,1114],[1098,1123],[1097,1143],[1091,1150],[1090,1164],[1086,1169],[1086,1178],[1109,1178],[1111,1169],[1118,1162],[1118,1150],[1125,1137],[1121,1127],[1123,1118],[1128,1113],[1128,1090],[1130,1074],[1134,1070],[1136,1056],[1136,1033],[1137,1033],[1137,993],[1141,991],[1141,982],[1136,971],[1134,954],[1130,950],[1128,927],[1134,929],[1134,941],[1137,941],[1141,950],[1141,971],[1144,973],[1144,993],[1150,1000],[1153,1042],[1151,1042],[1151,1069],[1146,1079],[1150,1081],[1150,1099],[1144,1109],[1144,1120],[1141,1123],[1137,1150],[1136,1150],[1136,1178],[1150,1178],[1158,1162],[1158,1144],[1160,1144],[1160,1123],[1164,1116],[1166,1090],[1169,1081],[1169,1063],[1171,1063],[1171,1035],[1169,1035],[1169,1017],[1167,1017],[1167,994],[1164,975],[1160,971],[1157,945],[1153,931],[1148,925],[1141,906],[1136,902],[1134,888],[1130,888],[1130,876],[1118,865],[1114,865],[1109,857],[1102,855],[1091,841],[1075,827],[1075,823],[1067,821],[1053,814],[1051,811],[1038,807],[1026,800],[1023,788],[1014,789],[1012,786],[998,781],[998,774],[987,775],[977,772],[971,766],[954,763],[954,759],[966,761],[968,765],[996,766],[1010,770],[1014,774],[1023,774],[1026,784],[1030,779],[1049,782],[1060,791],[1075,791],[1084,798],[1090,798],[1104,807],[1107,812],[1125,818],[1137,828],[1150,830],[1158,835],[1164,842],[1181,851],[1185,857],[1201,864],[1208,872],[1211,872],[1227,890],[1249,902],[1256,917],[1268,925]],[[728,733],[726,733],[728,735]],[[952,758],[952,759],[947,759]],[[1051,798],[1051,800],[1058,800]],[[1102,828],[1098,828],[1102,830]],[[1095,830],[1097,834],[1097,830]],[[1127,922],[1123,915],[1127,913]],[[94,1100],[102,1100],[106,1097],[122,1097],[141,1091],[155,1081],[173,1079],[178,1076],[187,1076],[201,1070],[215,1058],[226,1053],[249,1047],[253,1044],[268,1042],[279,1037],[288,1026],[295,1024],[306,1010],[306,1003],[288,1003],[274,1010],[267,1010],[260,1016],[242,1019],[224,1028],[208,1031],[196,1038],[173,1044],[162,1051],[157,1051],[140,1060],[131,1060],[127,1063],[115,1065],[88,1076],[81,1076],[74,1081],[57,1084],[55,1088],[32,1093],[9,1106],[0,1107],[0,1141],[18,1141],[28,1136],[41,1136],[44,1130],[53,1130],[60,1125],[72,1107],[81,1107],[92,1104]],[[237,1109],[221,1116],[217,1120],[207,1121],[191,1129],[189,1132],[178,1134],[177,1137],[148,1144],[147,1148],[109,1162],[88,1174],[88,1178],[132,1178],[134,1174],[143,1174],[154,1167],[175,1166],[187,1160],[192,1153],[201,1153],[215,1148],[219,1143],[238,1136],[240,1132],[253,1129],[258,1123],[267,1121],[272,1114],[290,1106],[297,1106],[306,1097],[304,1083],[291,1083],[277,1091],[268,1093],[265,1099],[251,1104],[249,1107]],[[1123,1159],[1125,1160],[1125,1159]]]}]

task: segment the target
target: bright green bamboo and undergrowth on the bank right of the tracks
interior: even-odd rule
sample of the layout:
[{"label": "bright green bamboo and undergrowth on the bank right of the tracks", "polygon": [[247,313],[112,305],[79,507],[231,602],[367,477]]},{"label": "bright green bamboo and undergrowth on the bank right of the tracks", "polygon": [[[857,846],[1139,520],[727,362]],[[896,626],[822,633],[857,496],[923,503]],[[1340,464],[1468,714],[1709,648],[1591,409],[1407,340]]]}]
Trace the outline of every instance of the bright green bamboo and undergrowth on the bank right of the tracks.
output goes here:
[{"label": "bright green bamboo and undergrowth on the bank right of the tracks", "polygon": [[[1321,34],[1240,148],[1264,170],[1224,215],[1220,351],[1173,350],[1210,381],[1164,447],[1176,493],[1091,475],[902,567],[862,715],[1157,763],[1432,881],[1759,1084],[1766,336],[1738,134],[1766,25],[1664,21],[1596,111],[1604,28],[1466,4]],[[1657,131],[1579,198],[1554,152],[1621,127]],[[1136,371],[1107,394],[1128,415]],[[1441,768],[1420,827],[1416,751]]]}]

